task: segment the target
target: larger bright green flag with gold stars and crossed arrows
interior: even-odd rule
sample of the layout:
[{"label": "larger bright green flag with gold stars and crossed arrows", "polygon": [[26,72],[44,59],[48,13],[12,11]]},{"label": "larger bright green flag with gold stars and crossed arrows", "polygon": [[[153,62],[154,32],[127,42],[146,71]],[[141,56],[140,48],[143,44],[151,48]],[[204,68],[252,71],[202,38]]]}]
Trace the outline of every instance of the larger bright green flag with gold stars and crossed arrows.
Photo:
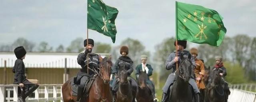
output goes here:
[{"label": "larger bright green flag with gold stars and crossed arrows", "polygon": [[222,19],[215,10],[176,2],[176,38],[219,46],[226,33]]}]

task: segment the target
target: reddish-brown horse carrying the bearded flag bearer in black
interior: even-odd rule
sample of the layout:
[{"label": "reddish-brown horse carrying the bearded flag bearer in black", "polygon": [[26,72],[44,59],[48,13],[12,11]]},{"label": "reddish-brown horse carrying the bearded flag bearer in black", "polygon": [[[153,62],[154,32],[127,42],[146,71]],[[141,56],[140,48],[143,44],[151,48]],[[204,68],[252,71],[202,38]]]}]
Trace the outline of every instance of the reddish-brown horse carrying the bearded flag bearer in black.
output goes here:
[{"label": "reddish-brown horse carrying the bearded flag bearer in black", "polygon": [[[110,58],[102,59],[100,57],[100,72],[90,88],[89,96],[82,97],[81,100],[86,102],[111,102],[112,96],[110,92],[109,79],[111,73],[112,62]],[[72,96],[71,82],[73,78],[66,81],[62,85],[62,97],[64,102],[76,102],[76,96]]]}]

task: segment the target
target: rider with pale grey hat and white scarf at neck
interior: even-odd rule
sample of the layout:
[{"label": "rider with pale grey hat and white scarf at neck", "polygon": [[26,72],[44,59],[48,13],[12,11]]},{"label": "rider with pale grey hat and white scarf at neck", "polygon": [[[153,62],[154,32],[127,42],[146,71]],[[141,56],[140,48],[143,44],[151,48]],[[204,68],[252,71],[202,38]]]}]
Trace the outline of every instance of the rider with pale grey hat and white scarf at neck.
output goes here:
[{"label": "rider with pale grey hat and white scarf at neck", "polygon": [[[148,59],[147,55],[141,55],[142,63],[136,67],[136,79],[139,77],[140,71],[146,72],[148,74],[148,77],[150,77],[153,74],[153,69],[151,65],[146,63],[147,59]],[[154,96],[154,102],[158,102],[158,99],[155,96],[155,86],[153,82],[148,78],[146,83],[148,85],[148,88],[150,88],[152,96]]]}]

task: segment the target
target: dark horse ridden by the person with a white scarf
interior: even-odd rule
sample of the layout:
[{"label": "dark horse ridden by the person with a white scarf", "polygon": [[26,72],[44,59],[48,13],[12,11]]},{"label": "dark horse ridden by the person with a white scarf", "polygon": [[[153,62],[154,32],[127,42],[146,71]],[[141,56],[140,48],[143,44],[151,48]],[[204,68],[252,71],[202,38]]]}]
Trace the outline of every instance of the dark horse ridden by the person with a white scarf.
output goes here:
[{"label": "dark horse ridden by the person with a white scarf", "polygon": [[139,88],[136,100],[138,102],[154,102],[154,96],[152,96],[151,91],[146,84],[147,79],[147,73],[141,71],[137,80]]}]

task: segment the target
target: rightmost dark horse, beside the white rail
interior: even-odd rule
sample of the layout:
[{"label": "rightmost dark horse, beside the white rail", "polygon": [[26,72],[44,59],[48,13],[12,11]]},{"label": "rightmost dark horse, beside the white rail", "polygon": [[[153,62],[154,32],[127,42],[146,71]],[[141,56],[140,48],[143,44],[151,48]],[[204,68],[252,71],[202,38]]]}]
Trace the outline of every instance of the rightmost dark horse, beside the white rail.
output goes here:
[{"label": "rightmost dark horse, beside the white rail", "polygon": [[208,101],[209,102],[227,102],[227,95],[224,91],[222,77],[219,75],[220,69],[213,69],[210,73],[211,83],[208,87]]}]

